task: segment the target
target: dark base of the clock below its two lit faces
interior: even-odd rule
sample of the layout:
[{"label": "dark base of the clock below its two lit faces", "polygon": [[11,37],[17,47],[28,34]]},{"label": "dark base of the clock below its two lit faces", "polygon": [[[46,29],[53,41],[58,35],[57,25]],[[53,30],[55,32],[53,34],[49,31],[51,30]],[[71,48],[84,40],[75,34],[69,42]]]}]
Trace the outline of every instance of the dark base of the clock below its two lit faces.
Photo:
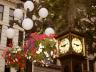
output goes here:
[{"label": "dark base of the clock below its two lit faces", "polygon": [[62,72],[87,72],[87,60],[84,56],[66,55],[59,57]]}]

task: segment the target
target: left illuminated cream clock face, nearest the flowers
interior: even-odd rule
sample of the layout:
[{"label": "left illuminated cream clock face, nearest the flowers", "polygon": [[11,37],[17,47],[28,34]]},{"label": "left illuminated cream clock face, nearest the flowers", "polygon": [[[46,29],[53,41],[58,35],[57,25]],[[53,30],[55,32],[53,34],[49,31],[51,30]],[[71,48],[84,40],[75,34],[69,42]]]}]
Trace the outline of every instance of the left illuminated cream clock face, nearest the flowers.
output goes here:
[{"label": "left illuminated cream clock face, nearest the flowers", "polygon": [[60,45],[59,45],[60,53],[64,54],[68,52],[69,47],[70,47],[69,39],[64,38],[63,40],[61,40]]}]

